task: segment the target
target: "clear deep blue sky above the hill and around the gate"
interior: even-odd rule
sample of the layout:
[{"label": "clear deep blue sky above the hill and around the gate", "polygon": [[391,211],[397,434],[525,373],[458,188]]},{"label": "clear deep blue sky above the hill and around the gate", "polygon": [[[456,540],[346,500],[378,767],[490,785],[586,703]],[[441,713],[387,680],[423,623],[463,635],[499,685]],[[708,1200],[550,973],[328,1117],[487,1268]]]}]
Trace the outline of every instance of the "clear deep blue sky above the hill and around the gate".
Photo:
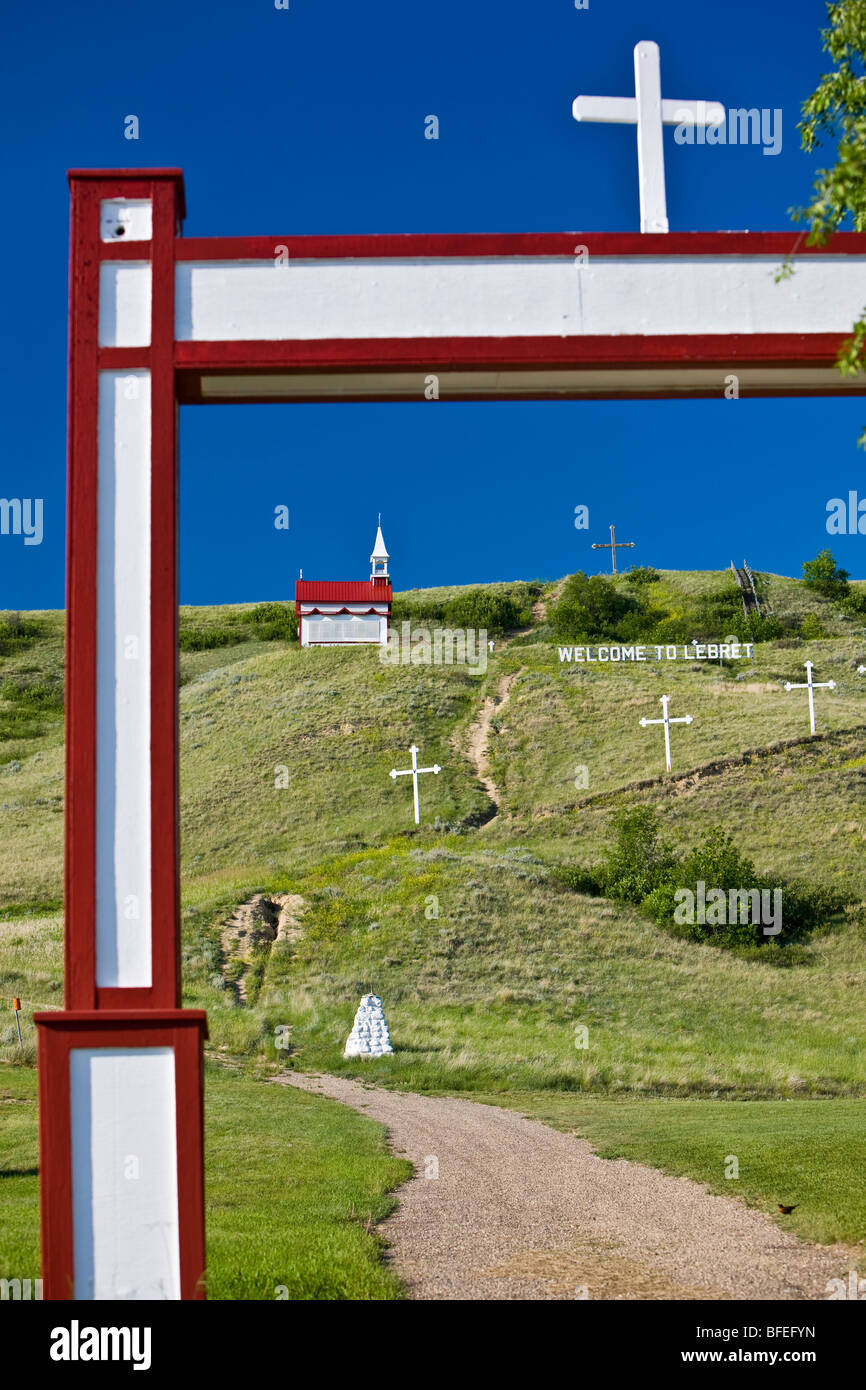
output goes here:
[{"label": "clear deep blue sky above the hill and around the gate", "polygon": [[[776,157],[666,132],[671,229],[784,229],[816,163],[796,121],[827,67],[824,14],[820,0],[15,7],[0,58],[0,496],[43,498],[44,539],[0,537],[0,609],[64,602],[68,167],[182,167],[189,236],[634,231],[634,131],[578,126],[571,101],[630,95],[632,46],[655,39],[664,95],[784,113]],[[424,139],[430,113],[439,140]],[[291,598],[299,567],[363,577],[379,510],[399,588],[594,573],[606,560],[589,541],[610,521],[635,563],[745,556],[798,574],[831,543],[866,577],[866,538],[824,530],[828,498],[866,495],[865,421],[866,400],[805,399],[185,407],[181,599]]]}]

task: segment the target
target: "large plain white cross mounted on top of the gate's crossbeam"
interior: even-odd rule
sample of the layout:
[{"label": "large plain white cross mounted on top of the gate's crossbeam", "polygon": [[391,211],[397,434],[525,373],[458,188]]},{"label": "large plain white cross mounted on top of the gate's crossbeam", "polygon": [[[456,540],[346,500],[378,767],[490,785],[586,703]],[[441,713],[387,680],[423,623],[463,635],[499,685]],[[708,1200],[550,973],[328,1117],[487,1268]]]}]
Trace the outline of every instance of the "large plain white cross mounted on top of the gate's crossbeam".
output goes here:
[{"label": "large plain white cross mounted on top of the gate's crossbeam", "polygon": [[638,128],[638,188],[641,231],[666,232],[663,125],[721,125],[719,101],[663,101],[659,44],[642,39],[634,49],[634,96],[577,96],[575,121],[613,121]]}]

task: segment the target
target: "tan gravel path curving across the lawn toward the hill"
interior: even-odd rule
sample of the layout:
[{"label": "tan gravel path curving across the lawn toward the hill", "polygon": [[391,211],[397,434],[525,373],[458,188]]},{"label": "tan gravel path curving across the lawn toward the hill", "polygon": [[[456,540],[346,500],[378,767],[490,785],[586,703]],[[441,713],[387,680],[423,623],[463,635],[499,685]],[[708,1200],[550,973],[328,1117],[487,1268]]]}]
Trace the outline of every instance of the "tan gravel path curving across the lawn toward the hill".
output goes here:
[{"label": "tan gravel path curving across the lawn toward the hill", "polygon": [[379,1227],[410,1298],[827,1298],[827,1280],[852,1268],[845,1247],[806,1245],[734,1198],[598,1158],[513,1111],[335,1076],[281,1080],[379,1120],[414,1163]]}]

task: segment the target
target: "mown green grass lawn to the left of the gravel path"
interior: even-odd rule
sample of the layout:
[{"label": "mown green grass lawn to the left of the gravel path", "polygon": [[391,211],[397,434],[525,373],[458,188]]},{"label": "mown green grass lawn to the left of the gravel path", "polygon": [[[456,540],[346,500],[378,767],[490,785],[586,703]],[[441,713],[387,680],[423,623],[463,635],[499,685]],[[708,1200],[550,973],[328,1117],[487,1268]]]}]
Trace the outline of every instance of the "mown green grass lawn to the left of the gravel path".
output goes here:
[{"label": "mown green grass lawn to the left of the gravel path", "polygon": [[[0,1277],[36,1279],[35,1069],[0,1069]],[[210,1298],[402,1297],[367,1229],[410,1172],[379,1125],[209,1065],[204,1143]]]}]

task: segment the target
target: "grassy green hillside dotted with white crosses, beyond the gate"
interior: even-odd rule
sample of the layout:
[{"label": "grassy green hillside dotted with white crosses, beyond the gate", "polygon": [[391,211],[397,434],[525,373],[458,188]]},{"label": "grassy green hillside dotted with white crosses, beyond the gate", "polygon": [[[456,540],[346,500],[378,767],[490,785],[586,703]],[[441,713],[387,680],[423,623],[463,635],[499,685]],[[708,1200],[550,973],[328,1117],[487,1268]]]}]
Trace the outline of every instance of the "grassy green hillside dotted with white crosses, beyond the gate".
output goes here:
[{"label": "grassy green hillside dotted with white crosses, beyond the gate", "polygon": [[[724,582],[663,573],[652,602],[688,627]],[[207,1008],[211,1055],[247,1083],[296,1066],[509,1104],[532,1093],[537,1106],[559,1095],[580,1109],[591,1097],[578,1118],[599,1143],[621,1134],[598,1109],[616,1098],[701,1098],[708,1116],[726,1106],[731,1125],[741,1102],[770,1115],[799,1098],[822,1116],[823,1144],[842,1115],[834,1105],[866,1095],[863,619],[799,581],[760,575],[783,635],[752,659],[587,666],[559,659],[560,589],[535,585],[532,619],[498,638],[478,673],[384,664],[370,649],[300,651],[257,635],[250,605],[182,610],[195,632],[181,651],[185,999]],[[402,600],[434,626],[456,595]],[[61,1001],[63,614],[26,614],[18,631],[0,627],[0,1006],[19,994],[32,1011]],[[805,692],[783,688],[806,659],[816,680],[837,682],[816,696],[816,739]],[[673,778],[662,776],[662,731],[639,724],[657,717],[662,694],[673,714],[694,717],[673,730]],[[470,733],[485,699],[499,702],[492,819]],[[443,769],[423,778],[417,828],[406,780],[388,776],[413,741],[424,764]],[[575,785],[578,767],[588,785]],[[617,810],[635,805],[656,810],[680,851],[724,826],[762,873],[837,888],[844,912],[795,949],[746,956],[569,888],[563,869],[598,865]],[[304,906],[292,940],[254,947],[240,1004],[224,924],[256,892],[297,894]],[[396,1055],[345,1062],[368,988],[385,999]],[[281,1026],[289,1049],[275,1047]],[[0,1044],[14,1061],[14,1031]],[[553,1099],[548,1112],[566,1122]],[[794,1161],[790,1130],[780,1144]],[[849,1111],[844,1134],[849,1152]],[[666,1162],[656,1138],[641,1140],[639,1156]],[[685,1148],[681,1170],[710,1180],[706,1144]],[[822,1229],[860,1238],[858,1222],[827,1216]]]}]

